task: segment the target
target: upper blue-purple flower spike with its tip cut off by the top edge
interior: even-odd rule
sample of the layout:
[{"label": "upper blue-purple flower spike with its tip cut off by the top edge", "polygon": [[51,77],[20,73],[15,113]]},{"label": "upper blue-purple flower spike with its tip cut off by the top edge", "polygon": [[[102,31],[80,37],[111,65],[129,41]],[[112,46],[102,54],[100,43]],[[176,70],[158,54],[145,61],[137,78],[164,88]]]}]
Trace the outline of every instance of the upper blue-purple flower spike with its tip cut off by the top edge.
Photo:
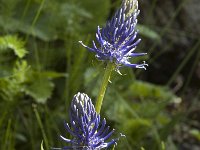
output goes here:
[{"label": "upper blue-purple flower spike with its tip cut off by the top edge", "polygon": [[85,48],[96,53],[99,60],[110,61],[120,67],[121,65],[146,69],[148,64],[132,64],[129,58],[146,55],[146,53],[135,53],[136,46],[141,39],[136,39],[138,31],[137,24],[138,1],[123,0],[120,9],[106,23],[102,29],[98,26],[96,40],[99,46],[93,41],[93,47],[88,47],[79,41]]}]

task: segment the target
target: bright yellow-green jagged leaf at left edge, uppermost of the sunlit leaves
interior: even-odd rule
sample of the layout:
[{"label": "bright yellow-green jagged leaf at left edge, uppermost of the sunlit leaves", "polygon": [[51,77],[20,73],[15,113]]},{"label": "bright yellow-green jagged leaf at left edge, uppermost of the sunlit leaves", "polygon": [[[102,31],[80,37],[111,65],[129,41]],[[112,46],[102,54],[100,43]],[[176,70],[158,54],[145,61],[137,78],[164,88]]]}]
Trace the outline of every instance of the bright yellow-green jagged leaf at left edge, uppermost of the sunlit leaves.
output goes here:
[{"label": "bright yellow-green jagged leaf at left edge, uppermost of the sunlit leaves", "polygon": [[12,49],[15,55],[19,58],[23,58],[27,54],[27,51],[24,46],[24,41],[19,39],[17,36],[6,35],[0,37],[0,49]]}]

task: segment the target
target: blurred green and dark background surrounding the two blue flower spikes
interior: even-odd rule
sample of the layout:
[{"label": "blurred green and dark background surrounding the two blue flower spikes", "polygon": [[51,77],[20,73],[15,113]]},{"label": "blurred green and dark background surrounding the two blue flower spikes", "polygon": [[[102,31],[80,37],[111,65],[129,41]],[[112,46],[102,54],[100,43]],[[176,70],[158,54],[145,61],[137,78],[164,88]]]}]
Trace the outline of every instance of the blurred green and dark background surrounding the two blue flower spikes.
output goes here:
[{"label": "blurred green and dark background surrounding the two blue flower spikes", "polygon": [[[90,45],[121,0],[0,0],[0,149],[38,150],[59,139],[74,94],[97,97],[105,64]],[[146,71],[114,72],[103,109],[126,135],[115,149],[200,149],[200,1],[140,0],[136,51]],[[95,103],[95,101],[94,101]]]}]

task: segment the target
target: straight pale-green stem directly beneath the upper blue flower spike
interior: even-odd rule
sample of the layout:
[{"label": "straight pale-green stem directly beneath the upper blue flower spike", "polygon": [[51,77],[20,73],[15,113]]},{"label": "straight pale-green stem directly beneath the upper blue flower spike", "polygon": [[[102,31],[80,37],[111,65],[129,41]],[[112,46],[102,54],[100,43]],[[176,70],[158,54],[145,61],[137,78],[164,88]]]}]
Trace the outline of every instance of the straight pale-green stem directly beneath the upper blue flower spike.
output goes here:
[{"label": "straight pale-green stem directly beneath the upper blue flower spike", "polygon": [[96,106],[95,106],[97,113],[100,113],[100,111],[101,111],[101,106],[102,106],[102,103],[103,103],[103,98],[104,98],[104,95],[105,95],[105,92],[106,92],[108,81],[110,79],[111,73],[112,73],[114,68],[115,68],[115,64],[111,63],[111,62],[109,62],[107,67],[106,67],[106,70],[105,70],[105,73],[104,73],[104,76],[103,76],[103,81],[101,83],[101,87],[100,87],[99,94],[98,94],[98,97],[97,97]]}]

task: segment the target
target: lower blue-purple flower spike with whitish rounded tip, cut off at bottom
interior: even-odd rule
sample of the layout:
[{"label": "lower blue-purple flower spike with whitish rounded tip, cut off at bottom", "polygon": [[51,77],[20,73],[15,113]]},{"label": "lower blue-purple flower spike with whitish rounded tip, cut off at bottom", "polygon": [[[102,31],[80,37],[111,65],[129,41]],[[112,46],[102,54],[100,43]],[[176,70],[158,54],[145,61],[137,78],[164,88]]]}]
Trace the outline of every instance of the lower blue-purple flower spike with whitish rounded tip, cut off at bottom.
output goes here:
[{"label": "lower blue-purple flower spike with whitish rounded tip, cut off at bottom", "polygon": [[100,121],[100,115],[95,111],[91,99],[84,93],[76,94],[72,100],[70,126],[65,123],[65,128],[73,139],[60,136],[65,142],[71,144],[62,148],[63,150],[100,150],[115,144],[118,140],[105,142],[113,134],[114,129],[109,131],[110,127],[106,127],[106,120]]}]

